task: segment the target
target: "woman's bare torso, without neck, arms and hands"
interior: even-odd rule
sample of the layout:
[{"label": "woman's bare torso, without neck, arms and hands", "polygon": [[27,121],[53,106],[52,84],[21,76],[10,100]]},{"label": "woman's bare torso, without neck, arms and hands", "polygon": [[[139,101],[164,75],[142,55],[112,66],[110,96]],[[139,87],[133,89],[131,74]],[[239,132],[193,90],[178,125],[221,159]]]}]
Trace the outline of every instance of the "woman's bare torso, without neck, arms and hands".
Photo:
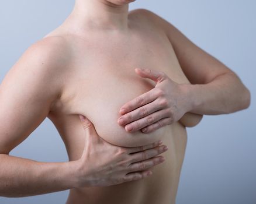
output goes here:
[{"label": "woman's bare torso, without neck, arms and hands", "polygon": [[[132,17],[131,17],[132,22]],[[177,83],[189,83],[174,50],[162,31],[131,23],[129,33],[90,33],[78,37],[57,29],[47,37],[62,36],[70,45],[72,59],[65,69],[64,90],[49,114],[67,149],[70,160],[84,150],[84,128],[78,114],[85,115],[99,136],[118,146],[141,146],[162,139],[168,151],[165,162],[153,175],[112,187],[71,189],[67,203],[175,203],[179,174],[186,147],[186,129],[179,122],[152,133],[127,133],[117,124],[120,107],[154,88],[134,68],[165,72]],[[184,116],[185,117],[185,116]],[[196,117],[196,116],[195,116]]]}]

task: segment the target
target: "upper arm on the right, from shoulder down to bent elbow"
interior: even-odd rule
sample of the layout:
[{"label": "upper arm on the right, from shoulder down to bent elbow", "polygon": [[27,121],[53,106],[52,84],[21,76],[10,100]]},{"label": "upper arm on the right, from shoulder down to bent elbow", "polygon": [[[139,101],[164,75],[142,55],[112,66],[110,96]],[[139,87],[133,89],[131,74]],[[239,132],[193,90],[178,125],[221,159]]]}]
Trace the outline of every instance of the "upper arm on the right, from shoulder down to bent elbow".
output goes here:
[{"label": "upper arm on the right, from shoulder down to bent elbow", "polygon": [[141,10],[158,26],[161,26],[161,29],[164,29],[174,48],[182,71],[189,82],[192,84],[206,84],[224,73],[234,73],[218,59],[192,43],[191,40],[167,20],[162,19],[162,17],[149,10]]}]

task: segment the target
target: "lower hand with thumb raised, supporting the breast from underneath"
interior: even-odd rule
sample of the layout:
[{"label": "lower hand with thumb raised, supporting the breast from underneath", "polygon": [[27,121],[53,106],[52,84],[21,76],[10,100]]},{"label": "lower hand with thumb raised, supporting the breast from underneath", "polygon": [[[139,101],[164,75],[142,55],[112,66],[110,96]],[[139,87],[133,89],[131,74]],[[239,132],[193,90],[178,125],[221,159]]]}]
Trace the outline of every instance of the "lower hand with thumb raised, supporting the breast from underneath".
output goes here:
[{"label": "lower hand with thumb raised, supporting the breast from underneath", "polygon": [[94,125],[79,115],[85,129],[85,148],[77,164],[77,187],[106,187],[140,180],[152,174],[149,168],[164,161],[161,142],[140,147],[111,145],[98,136]]}]

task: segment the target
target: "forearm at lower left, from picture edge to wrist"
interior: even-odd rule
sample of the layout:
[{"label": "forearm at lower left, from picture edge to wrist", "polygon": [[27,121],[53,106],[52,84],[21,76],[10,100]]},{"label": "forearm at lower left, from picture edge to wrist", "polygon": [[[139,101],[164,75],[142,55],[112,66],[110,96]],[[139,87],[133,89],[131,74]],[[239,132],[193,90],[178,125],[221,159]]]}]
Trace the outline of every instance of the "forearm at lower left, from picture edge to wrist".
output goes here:
[{"label": "forearm at lower left, from picture edge to wrist", "polygon": [[24,197],[74,188],[74,162],[46,163],[0,154],[0,196]]}]

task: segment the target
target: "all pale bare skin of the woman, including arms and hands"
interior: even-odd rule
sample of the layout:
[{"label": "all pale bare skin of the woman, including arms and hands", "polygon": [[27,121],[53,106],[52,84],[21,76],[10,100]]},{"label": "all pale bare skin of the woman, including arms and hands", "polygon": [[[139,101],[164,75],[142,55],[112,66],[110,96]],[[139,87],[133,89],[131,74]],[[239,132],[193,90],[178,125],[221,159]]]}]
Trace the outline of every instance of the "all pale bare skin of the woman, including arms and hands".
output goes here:
[{"label": "all pale bare skin of the woman, including arms and hands", "polygon": [[[250,105],[250,92],[234,72],[200,50],[154,13],[143,9],[129,13],[129,2],[132,1],[77,0],[67,20],[43,40],[32,45],[5,76],[0,86],[1,196],[30,196],[72,189],[67,203],[155,203],[150,193],[144,194],[154,191],[160,195],[160,203],[175,203],[186,144],[185,126],[198,124],[203,114],[227,114]],[[155,30],[164,31],[168,37],[182,71],[191,84],[185,80],[185,76],[178,74],[181,68],[169,65],[169,61],[162,62],[162,65],[171,66],[171,70],[157,66],[160,62],[155,62],[156,67],[146,71],[134,70],[148,66],[143,64],[146,62],[140,63],[140,59],[152,52],[142,50],[139,52],[141,56],[129,56],[129,47],[136,52],[136,40],[140,39],[140,34],[147,36],[145,30],[155,25],[160,25]],[[143,29],[138,30],[138,27]],[[129,36],[134,38],[130,39]],[[147,44],[151,48],[155,46],[156,52],[164,53],[155,44]],[[102,50],[98,48],[100,46]],[[120,67],[117,60],[96,58],[99,54],[103,53],[101,57],[108,54],[104,49],[109,46],[120,49],[116,52],[113,49],[112,56],[120,53],[118,60],[129,66],[124,66],[124,63],[123,68],[117,69]],[[97,54],[94,56],[92,53]],[[174,52],[170,53],[168,56],[174,59]],[[127,61],[122,56],[128,56]],[[147,60],[148,64],[154,62],[150,58]],[[133,83],[138,90],[130,90],[132,84],[127,82],[126,86],[119,80],[122,72],[132,71],[128,82]],[[97,81],[94,75],[101,80]],[[78,76],[86,80],[80,82]],[[137,77],[136,81],[132,82],[132,76]],[[149,82],[142,83],[141,76],[155,82],[150,90]],[[106,95],[103,91],[101,94],[96,93],[94,86],[97,85],[101,90],[106,87],[104,79],[109,82],[106,91],[115,92]],[[112,86],[110,82],[116,82],[119,86]],[[141,83],[141,87],[136,86],[136,83]],[[119,94],[116,97],[119,88],[126,89],[126,95]],[[138,92],[133,94],[132,91]],[[109,103],[98,103],[102,100],[110,101],[112,107],[108,106]],[[113,111],[110,111],[111,108]],[[122,108],[126,112],[119,112]],[[141,108],[144,110],[141,111]],[[158,115],[153,115],[155,110]],[[113,114],[114,111],[116,114]],[[98,112],[108,120],[103,123]],[[120,115],[117,117],[118,113]],[[88,119],[80,121],[78,115],[87,116],[93,123]],[[46,117],[54,122],[61,133],[70,161],[40,163],[9,156],[9,152]],[[117,123],[120,117],[125,121],[122,125]],[[148,117],[153,119],[149,120]],[[105,127],[107,122],[109,124]],[[133,127],[132,131],[128,130],[129,126]],[[146,126],[146,133],[138,133]],[[147,138],[154,132],[157,134],[153,139]],[[133,133],[138,135],[130,139]],[[158,143],[158,133],[162,133],[164,145]],[[165,145],[168,146],[167,152]],[[164,157],[165,162],[162,163]],[[169,182],[163,185],[164,180]],[[154,182],[154,187],[149,185],[151,182]],[[110,187],[115,184],[119,185]],[[117,198],[117,191],[120,198],[125,198],[124,201]],[[88,194],[92,197],[88,197]]]}]

